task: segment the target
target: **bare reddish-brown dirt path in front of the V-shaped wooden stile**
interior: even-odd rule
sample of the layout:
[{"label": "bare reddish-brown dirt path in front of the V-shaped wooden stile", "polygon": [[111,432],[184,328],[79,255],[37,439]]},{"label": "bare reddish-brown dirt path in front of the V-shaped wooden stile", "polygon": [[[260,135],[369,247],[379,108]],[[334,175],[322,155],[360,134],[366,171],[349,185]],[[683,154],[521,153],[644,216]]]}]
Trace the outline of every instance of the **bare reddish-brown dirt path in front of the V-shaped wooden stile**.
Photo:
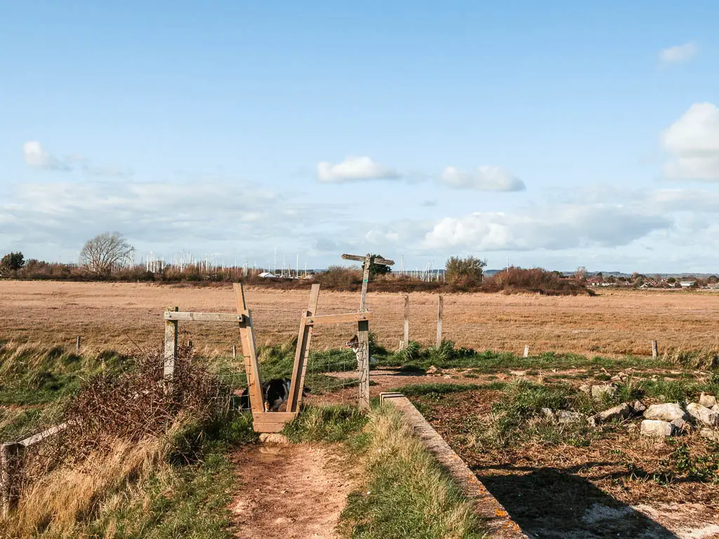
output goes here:
[{"label": "bare reddish-brown dirt path in front of the V-shaped wooden stile", "polygon": [[354,483],[331,446],[248,446],[234,455],[238,538],[333,539]]}]

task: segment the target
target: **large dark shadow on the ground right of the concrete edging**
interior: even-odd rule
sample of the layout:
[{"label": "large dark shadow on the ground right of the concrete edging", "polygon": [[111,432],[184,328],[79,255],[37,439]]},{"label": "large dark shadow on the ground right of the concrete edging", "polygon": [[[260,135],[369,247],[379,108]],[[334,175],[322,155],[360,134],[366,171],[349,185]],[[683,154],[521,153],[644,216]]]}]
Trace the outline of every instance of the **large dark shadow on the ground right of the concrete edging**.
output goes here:
[{"label": "large dark shadow on the ground right of the concrete edging", "polygon": [[658,522],[569,471],[479,466],[473,471],[533,538],[678,539]]}]

